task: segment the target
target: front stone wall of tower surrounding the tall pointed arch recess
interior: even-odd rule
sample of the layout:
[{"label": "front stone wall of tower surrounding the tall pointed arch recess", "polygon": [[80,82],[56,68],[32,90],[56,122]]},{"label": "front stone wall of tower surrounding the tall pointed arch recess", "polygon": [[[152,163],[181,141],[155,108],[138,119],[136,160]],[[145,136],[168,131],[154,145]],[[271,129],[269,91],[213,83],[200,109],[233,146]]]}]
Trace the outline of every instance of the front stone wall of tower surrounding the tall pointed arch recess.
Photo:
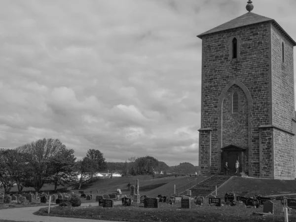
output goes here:
[{"label": "front stone wall of tower surrounding the tall pointed arch recess", "polygon": [[[211,164],[214,172],[221,170],[219,162],[221,162],[222,147],[218,147],[219,97],[231,80],[238,79],[252,95],[252,118],[249,120],[252,126],[249,166],[252,171],[249,171],[249,176],[259,176],[258,127],[270,124],[268,35],[270,35],[270,24],[261,23],[203,37],[201,127],[213,129]],[[239,38],[239,59],[232,59],[229,54],[233,37]]]}]

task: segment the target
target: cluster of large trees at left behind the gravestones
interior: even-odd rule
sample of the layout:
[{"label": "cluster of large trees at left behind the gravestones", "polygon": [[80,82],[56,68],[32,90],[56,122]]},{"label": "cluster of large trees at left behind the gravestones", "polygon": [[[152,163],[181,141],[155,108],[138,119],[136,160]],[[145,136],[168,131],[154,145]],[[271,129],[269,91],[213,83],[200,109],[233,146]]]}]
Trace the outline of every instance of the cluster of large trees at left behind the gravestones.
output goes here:
[{"label": "cluster of large trees at left behind the gravestones", "polygon": [[0,148],[0,188],[9,193],[14,184],[39,192],[44,184],[80,186],[107,167],[103,153],[89,149],[77,160],[74,150],[58,139],[40,139],[14,149]]}]

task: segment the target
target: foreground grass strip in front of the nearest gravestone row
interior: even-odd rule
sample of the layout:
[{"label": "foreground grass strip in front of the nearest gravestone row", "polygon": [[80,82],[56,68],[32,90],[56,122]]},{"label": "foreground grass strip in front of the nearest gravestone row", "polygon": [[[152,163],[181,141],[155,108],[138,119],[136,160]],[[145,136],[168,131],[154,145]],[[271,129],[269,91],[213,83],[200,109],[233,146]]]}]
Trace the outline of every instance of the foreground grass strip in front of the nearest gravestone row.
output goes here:
[{"label": "foreground grass strip in front of the nearest gravestone row", "polygon": [[[253,212],[263,212],[263,208],[249,208],[244,204],[236,206],[213,207],[204,206],[197,207],[191,202],[191,209],[182,209],[181,202],[175,205],[159,203],[159,208],[144,208],[143,205],[136,207],[123,207],[116,205],[113,208],[103,207],[54,207],[51,208],[49,216],[85,218],[96,220],[111,221],[130,221],[130,222],[283,222],[284,214],[282,213],[282,205],[279,200],[272,200],[275,203],[274,215],[256,215]],[[42,208],[35,215],[46,215],[47,208]],[[289,215],[289,221],[296,221],[296,210],[292,210]],[[53,219],[54,221],[54,219]]]}]

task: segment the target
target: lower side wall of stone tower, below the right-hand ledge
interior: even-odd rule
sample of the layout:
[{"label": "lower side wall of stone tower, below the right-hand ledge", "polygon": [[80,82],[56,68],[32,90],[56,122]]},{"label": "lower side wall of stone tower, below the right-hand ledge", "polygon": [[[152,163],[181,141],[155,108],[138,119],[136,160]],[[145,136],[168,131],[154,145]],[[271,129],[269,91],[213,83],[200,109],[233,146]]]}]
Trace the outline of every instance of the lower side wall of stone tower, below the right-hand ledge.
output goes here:
[{"label": "lower side wall of stone tower, below the right-hand ledge", "polygon": [[278,129],[274,131],[274,179],[294,180],[294,136]]}]

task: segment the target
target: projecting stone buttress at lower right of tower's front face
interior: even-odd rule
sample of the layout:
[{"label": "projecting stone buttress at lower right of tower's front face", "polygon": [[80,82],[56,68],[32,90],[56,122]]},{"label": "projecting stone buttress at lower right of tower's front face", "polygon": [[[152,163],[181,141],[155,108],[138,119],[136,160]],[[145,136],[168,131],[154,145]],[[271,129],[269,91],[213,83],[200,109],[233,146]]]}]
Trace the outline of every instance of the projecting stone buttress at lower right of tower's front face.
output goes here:
[{"label": "projecting stone buttress at lower right of tower's front face", "polygon": [[260,129],[260,177],[274,179],[273,128]]}]

